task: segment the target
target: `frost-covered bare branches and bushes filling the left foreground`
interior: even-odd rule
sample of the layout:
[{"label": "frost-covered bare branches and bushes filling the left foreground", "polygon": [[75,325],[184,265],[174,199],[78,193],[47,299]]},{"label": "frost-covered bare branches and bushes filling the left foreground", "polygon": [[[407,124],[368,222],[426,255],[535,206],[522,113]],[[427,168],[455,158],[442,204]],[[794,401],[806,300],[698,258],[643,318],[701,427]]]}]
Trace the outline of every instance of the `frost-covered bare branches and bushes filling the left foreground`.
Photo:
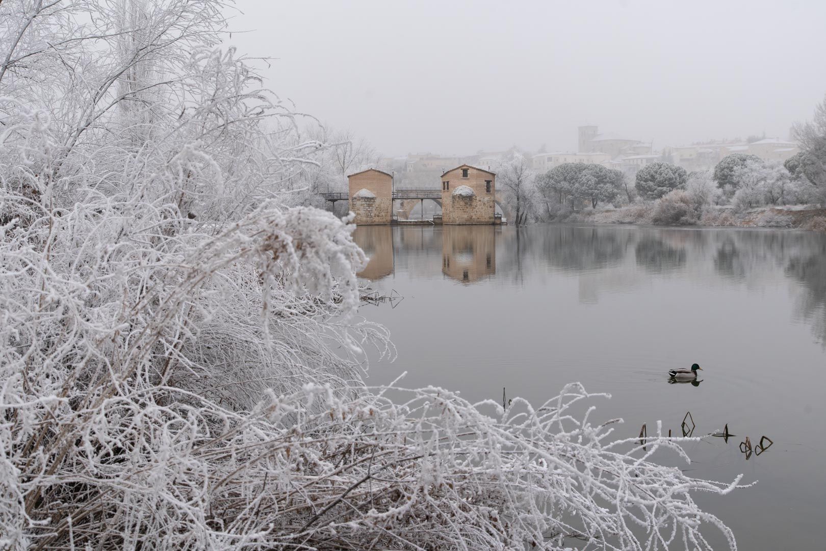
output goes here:
[{"label": "frost-covered bare branches and bushes filling the left foreground", "polygon": [[692,495],[738,480],[578,385],[364,386],[366,259],[305,204],[353,140],[221,50],[225,7],[0,3],[0,546],[733,548]]}]

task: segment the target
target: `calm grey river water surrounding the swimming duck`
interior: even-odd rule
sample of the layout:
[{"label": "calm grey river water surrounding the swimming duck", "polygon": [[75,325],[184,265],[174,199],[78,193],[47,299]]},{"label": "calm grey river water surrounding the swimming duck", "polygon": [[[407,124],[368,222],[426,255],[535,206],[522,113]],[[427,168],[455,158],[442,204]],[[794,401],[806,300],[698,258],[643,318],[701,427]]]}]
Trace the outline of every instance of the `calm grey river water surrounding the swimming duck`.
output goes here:
[{"label": "calm grey river water surrounding the swimming duck", "polygon": [[[695,496],[733,530],[739,549],[826,549],[826,235],[789,230],[637,226],[363,226],[361,274],[401,301],[359,313],[386,325],[394,363],[368,383],[407,372],[471,401],[590,392],[593,420],[695,435],[729,425],[728,443],[686,445],[695,477],[756,486]],[[699,384],[667,370],[700,363]],[[762,435],[749,458],[738,444]],[[676,464],[676,463],[675,463]],[[714,530],[709,530],[713,533]],[[718,546],[715,545],[715,549]],[[720,545],[719,547],[723,547]]]}]

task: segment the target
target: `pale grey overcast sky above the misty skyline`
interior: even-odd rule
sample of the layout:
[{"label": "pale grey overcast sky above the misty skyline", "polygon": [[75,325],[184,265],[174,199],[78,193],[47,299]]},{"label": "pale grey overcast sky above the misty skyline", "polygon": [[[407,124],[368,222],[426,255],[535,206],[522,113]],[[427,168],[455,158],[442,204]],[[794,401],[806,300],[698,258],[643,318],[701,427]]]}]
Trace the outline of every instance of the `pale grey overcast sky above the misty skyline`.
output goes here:
[{"label": "pale grey overcast sky above the misty skyline", "polygon": [[238,0],[267,85],[386,155],[788,136],[826,93],[826,0]]}]

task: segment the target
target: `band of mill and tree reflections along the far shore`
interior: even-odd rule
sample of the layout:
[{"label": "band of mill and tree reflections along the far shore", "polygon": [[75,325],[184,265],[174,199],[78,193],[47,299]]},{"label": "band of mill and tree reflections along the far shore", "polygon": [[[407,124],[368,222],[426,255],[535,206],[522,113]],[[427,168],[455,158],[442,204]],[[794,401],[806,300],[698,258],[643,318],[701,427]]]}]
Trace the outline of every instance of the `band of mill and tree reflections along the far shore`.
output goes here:
[{"label": "band of mill and tree reflections along the far shore", "polygon": [[[826,344],[826,235],[787,230],[674,230],[617,226],[362,226],[356,242],[370,262],[359,275],[396,271],[460,283],[493,279],[517,287],[561,270],[577,277],[578,299],[635,292],[651,276],[728,281],[757,291],[794,281],[795,320]],[[641,273],[637,268],[642,268]],[[722,277],[722,279],[721,279]]]}]

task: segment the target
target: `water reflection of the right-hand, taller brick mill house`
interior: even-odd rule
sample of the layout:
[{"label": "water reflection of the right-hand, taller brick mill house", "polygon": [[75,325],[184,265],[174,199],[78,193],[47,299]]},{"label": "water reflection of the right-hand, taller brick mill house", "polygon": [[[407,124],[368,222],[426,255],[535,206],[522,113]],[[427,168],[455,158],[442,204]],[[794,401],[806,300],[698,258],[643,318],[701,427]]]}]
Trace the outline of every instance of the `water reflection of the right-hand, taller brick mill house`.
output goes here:
[{"label": "water reflection of the right-hand, taller brick mill house", "polygon": [[496,273],[495,232],[492,226],[444,226],[442,273],[465,283]]}]

